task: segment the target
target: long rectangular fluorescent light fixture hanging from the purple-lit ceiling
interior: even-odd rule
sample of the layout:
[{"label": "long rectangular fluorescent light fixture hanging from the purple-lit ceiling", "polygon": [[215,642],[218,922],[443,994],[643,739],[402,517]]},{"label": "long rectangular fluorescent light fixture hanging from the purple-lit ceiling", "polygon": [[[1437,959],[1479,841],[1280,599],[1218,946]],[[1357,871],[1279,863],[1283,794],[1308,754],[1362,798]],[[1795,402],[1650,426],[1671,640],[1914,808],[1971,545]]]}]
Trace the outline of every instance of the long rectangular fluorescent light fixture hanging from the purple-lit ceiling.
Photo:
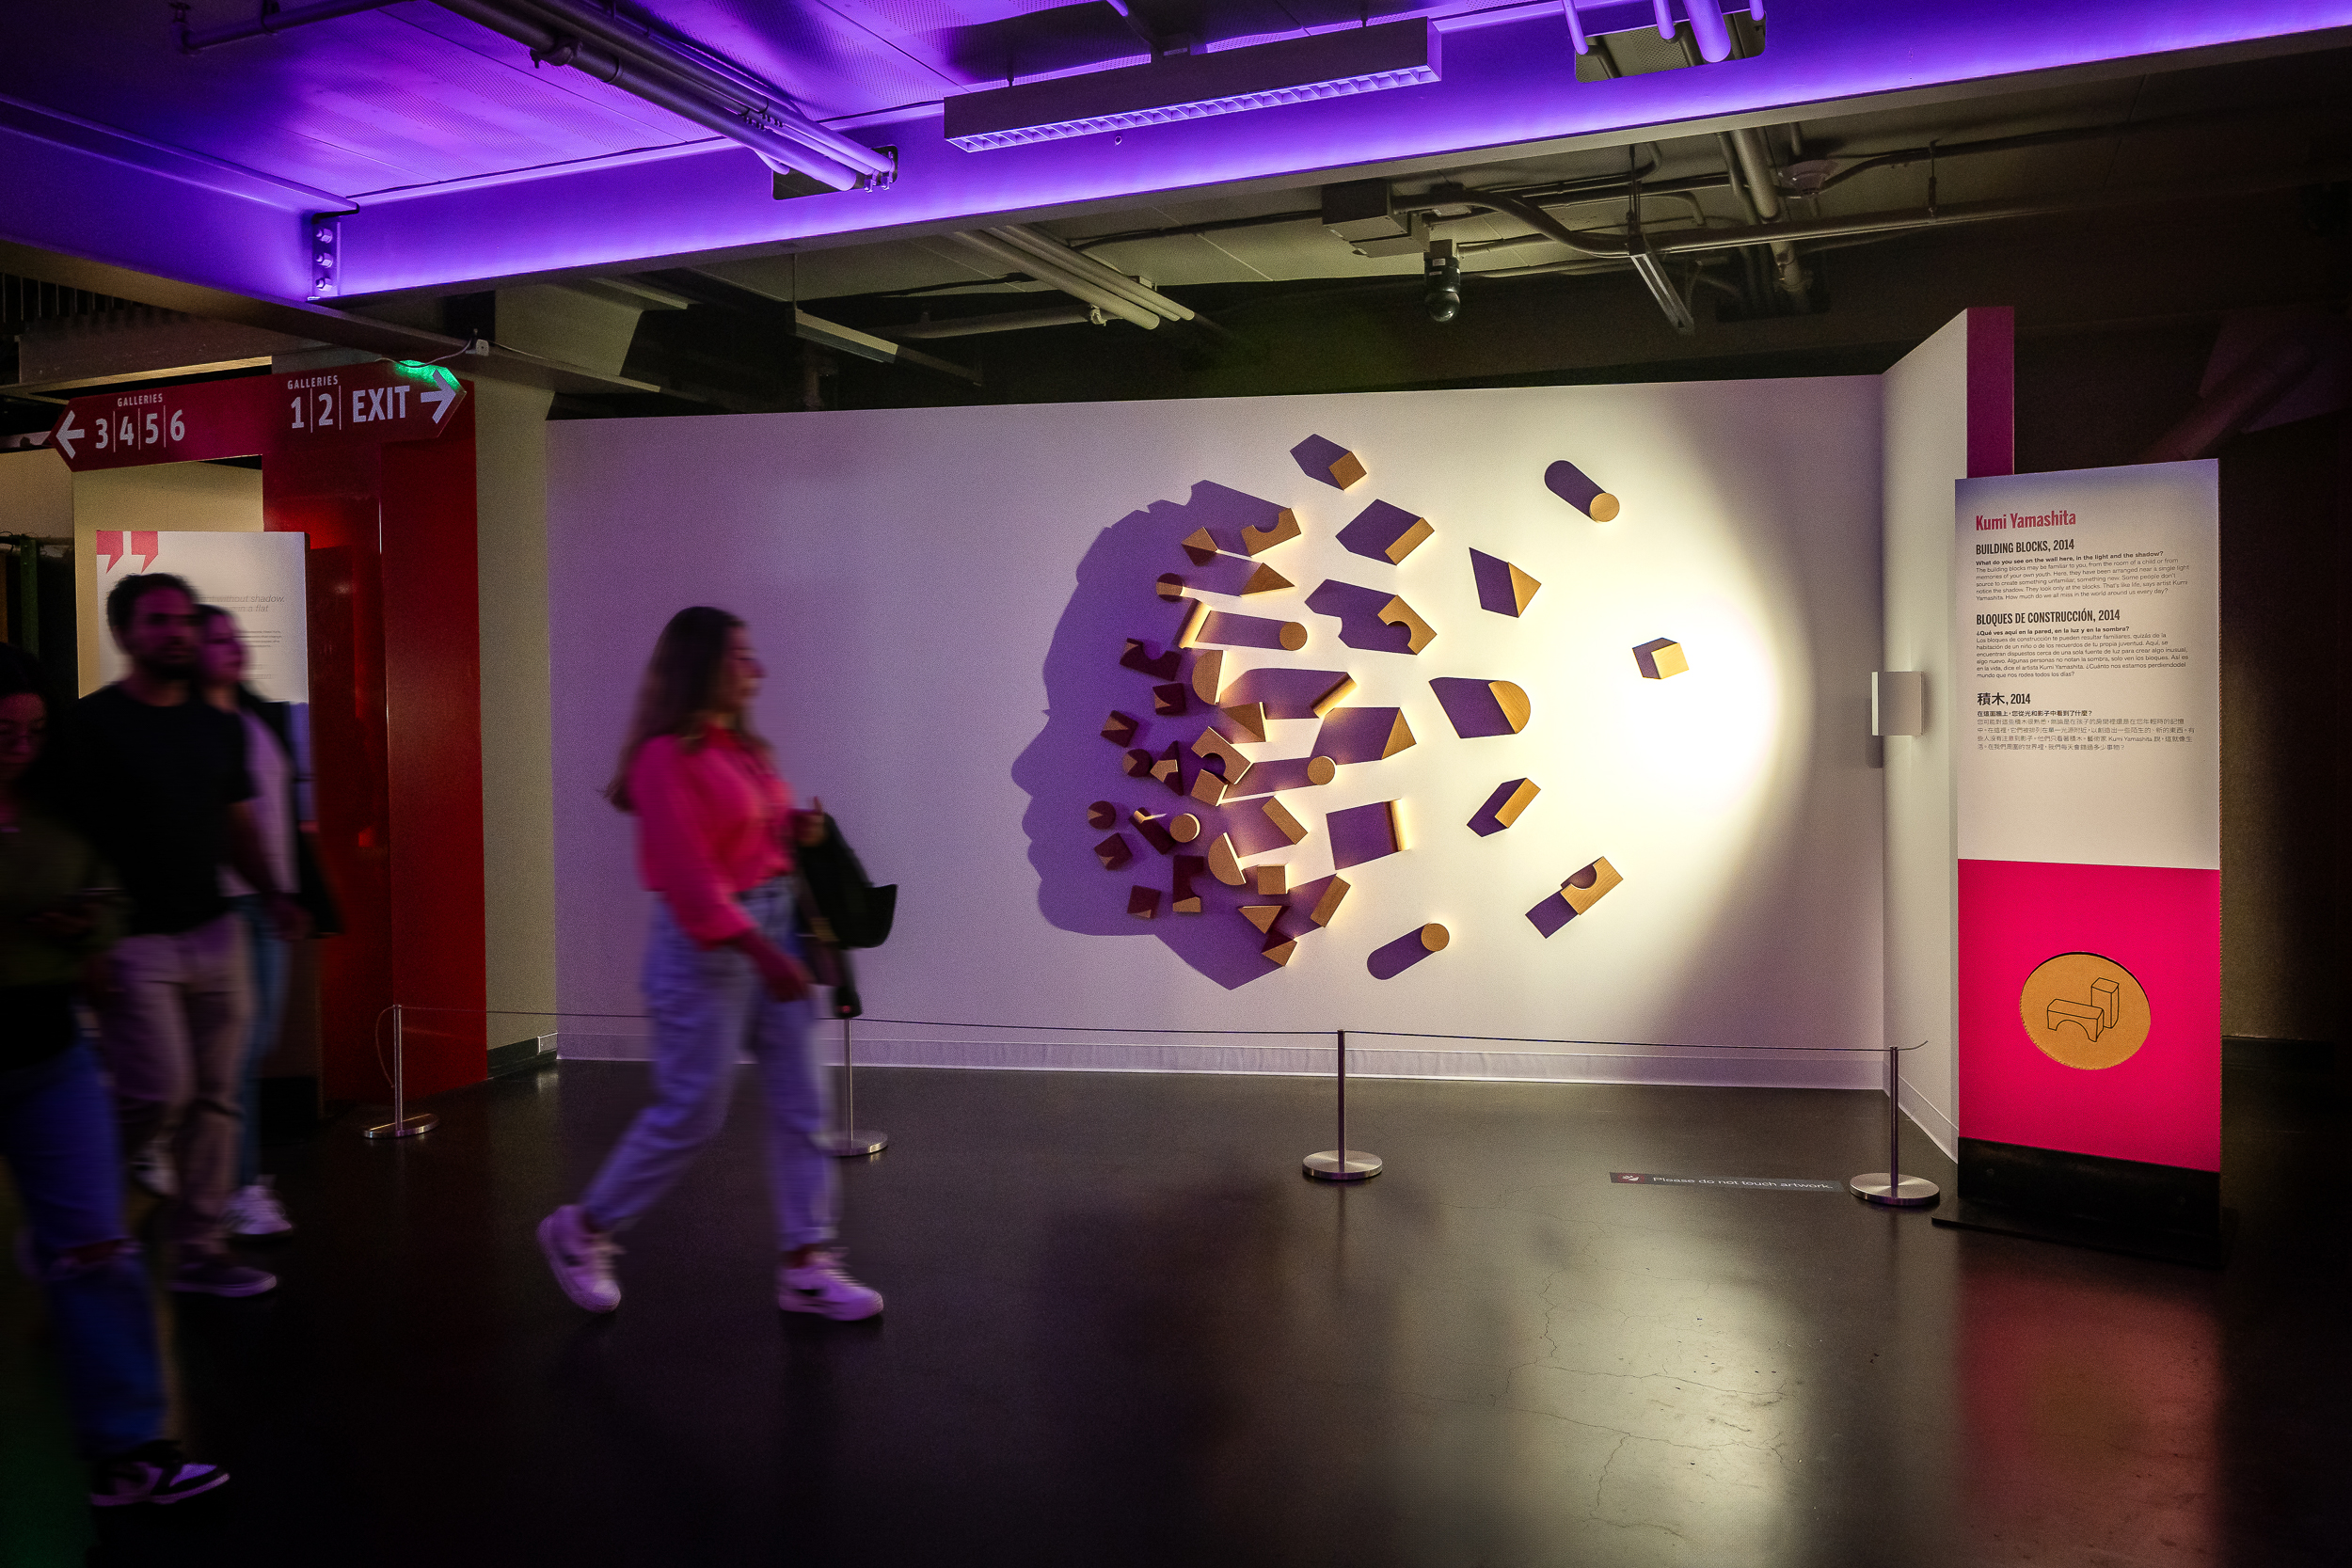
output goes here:
[{"label": "long rectangular fluorescent light fixture hanging from the purple-lit ceiling", "polygon": [[948,99],[948,141],[967,153],[1204,120],[1249,108],[1343,99],[1439,80],[1437,28],[1383,21],[1272,45],[1171,54],[1148,66],[1091,71]]}]

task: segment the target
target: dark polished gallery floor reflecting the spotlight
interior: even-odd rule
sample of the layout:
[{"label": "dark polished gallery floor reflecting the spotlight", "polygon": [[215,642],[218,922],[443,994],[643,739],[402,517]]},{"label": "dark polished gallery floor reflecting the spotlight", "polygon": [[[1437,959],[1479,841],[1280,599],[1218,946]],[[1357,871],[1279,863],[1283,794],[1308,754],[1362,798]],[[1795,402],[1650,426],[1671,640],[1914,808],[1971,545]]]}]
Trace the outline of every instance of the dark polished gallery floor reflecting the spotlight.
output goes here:
[{"label": "dark polished gallery floor reflecting the spotlight", "polygon": [[[2232,1265],[1931,1227],[1842,1194],[1884,1100],[877,1070],[875,1324],[769,1302],[757,1128],[572,1309],[532,1222],[635,1110],[574,1063],[280,1157],[285,1288],[181,1302],[235,1483],[92,1526],[0,1286],[0,1559],[78,1563],[2343,1563],[2328,1072],[2230,1072]],[[1912,1159],[1950,1180],[1915,1138]]]}]

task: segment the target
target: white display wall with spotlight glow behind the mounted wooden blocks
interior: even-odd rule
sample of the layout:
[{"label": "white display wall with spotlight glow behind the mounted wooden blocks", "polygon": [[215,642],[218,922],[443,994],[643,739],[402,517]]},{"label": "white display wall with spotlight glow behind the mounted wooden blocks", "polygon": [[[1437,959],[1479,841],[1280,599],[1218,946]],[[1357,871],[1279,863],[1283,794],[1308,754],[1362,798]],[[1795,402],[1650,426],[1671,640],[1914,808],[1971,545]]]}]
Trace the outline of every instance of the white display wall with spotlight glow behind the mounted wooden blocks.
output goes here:
[{"label": "white display wall with spotlight glow behind the mounted wooden blocks", "polygon": [[[1289,456],[1359,451],[1345,496]],[[1571,458],[1625,498],[1595,524],[1543,487]],[[1865,677],[1879,661],[1879,383],[1748,381],[1218,402],[581,421],[548,430],[548,588],[564,1046],[642,1053],[644,900],[628,820],[597,799],[654,632],[680,607],[748,616],[760,705],[790,778],[823,795],[898,933],[866,954],[861,1060],[1324,1070],[1310,1039],[1131,1039],[1160,1030],[1416,1030],[1496,1044],[1355,1039],[1371,1072],[1875,1084],[1882,1032],[1882,813]],[[1169,809],[1117,771],[1105,710],[1148,710],[1124,635],[1164,642],[1152,595],[1176,541],[1249,503],[1308,538],[1263,559],[1298,592],[1298,656],[1350,670],[1352,703],[1404,708],[1421,745],[1291,799],[1317,827],[1296,879],[1329,870],[1319,811],[1404,799],[1409,851],[1362,865],[1329,931],[1287,969],[1254,957],[1240,903],[1143,924],[1103,872],[1089,799]],[[1437,536],[1402,567],[1334,531],[1371,498]],[[1240,510],[1237,510],[1240,508]],[[1479,609],[1468,548],[1538,576],[1524,618]],[[1421,656],[1357,651],[1301,597],[1324,578],[1402,592]],[[1228,604],[1272,614],[1258,599]],[[1691,672],[1630,656],[1679,637]],[[1463,741],[1430,677],[1512,679],[1519,736]],[[1190,738],[1157,726],[1150,745]],[[1261,748],[1296,757],[1310,719]],[[1519,825],[1465,820],[1512,776]],[[1329,799],[1317,799],[1329,797]],[[1312,860],[1322,856],[1322,863]],[[1524,912],[1606,856],[1625,884],[1545,940]],[[1223,900],[1223,907],[1218,905]],[[1378,980],[1367,954],[1444,922],[1451,945]],[[962,1025],[1056,1025],[1068,1034]],[[597,1039],[597,1034],[604,1039]],[[1665,1041],[1759,1056],[1656,1053]]]}]

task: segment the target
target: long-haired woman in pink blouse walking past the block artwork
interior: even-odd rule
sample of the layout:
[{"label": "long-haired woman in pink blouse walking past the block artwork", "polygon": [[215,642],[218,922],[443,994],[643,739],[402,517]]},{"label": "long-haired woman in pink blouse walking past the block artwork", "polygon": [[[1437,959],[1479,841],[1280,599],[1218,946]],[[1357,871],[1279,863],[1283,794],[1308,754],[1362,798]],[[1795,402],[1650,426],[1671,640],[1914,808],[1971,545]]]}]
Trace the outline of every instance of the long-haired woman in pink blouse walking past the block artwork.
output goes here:
[{"label": "long-haired woman in pink blouse walking past the block artwork", "polygon": [[654,1103],[586,1197],[539,1222],[557,1284],[588,1312],[621,1305],[614,1234],[661,1201],[720,1131],[741,1051],[767,1093],[776,1305],[830,1319],[882,1312],[882,1295],[842,1272],[833,1246],[833,1159],[816,1147],[823,1088],[790,879],[795,842],[823,835],[823,802],[793,809],[750,726],[764,675],[741,618],[708,607],[670,616],[607,790],[635,813],[637,872],[659,893],[644,952]]}]

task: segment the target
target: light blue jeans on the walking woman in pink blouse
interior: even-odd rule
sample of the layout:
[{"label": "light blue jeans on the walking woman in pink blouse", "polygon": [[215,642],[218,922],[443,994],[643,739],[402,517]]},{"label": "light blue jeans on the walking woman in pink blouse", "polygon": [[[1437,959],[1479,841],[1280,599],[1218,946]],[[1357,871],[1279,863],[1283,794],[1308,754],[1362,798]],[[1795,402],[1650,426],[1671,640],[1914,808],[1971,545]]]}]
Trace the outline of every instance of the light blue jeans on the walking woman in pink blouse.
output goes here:
[{"label": "light blue jeans on the walking woman in pink blouse", "polygon": [[[793,886],[764,882],[739,898],[743,914],[793,957]],[[833,1241],[837,1218],[826,1131],[826,1086],[809,1044],[809,999],[776,1001],[760,971],[734,947],[696,947],[670,907],[654,903],[644,950],[644,1009],[654,1016],[654,1103],[637,1112],[588,1185],[581,1206],[595,1225],[626,1229],[684,1175],[727,1121],[736,1060],[750,1051],[767,1093],[767,1185],[776,1204],[776,1246]]]}]

